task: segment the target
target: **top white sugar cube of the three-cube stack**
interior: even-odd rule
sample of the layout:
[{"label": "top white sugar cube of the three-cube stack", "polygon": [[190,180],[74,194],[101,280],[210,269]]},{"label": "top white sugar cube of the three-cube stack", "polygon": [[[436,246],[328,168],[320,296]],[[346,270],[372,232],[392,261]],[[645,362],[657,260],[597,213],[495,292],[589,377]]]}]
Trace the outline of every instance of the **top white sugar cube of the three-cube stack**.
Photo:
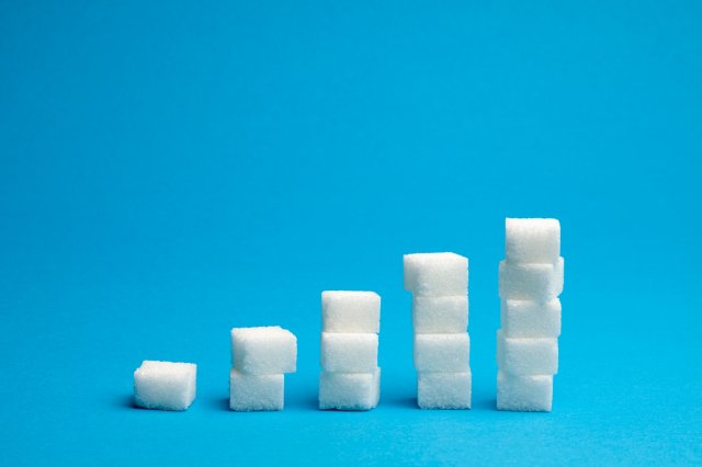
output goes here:
[{"label": "top white sugar cube of the three-cube stack", "polygon": [[321,330],[326,332],[378,333],[381,330],[381,296],[375,292],[322,292]]}]

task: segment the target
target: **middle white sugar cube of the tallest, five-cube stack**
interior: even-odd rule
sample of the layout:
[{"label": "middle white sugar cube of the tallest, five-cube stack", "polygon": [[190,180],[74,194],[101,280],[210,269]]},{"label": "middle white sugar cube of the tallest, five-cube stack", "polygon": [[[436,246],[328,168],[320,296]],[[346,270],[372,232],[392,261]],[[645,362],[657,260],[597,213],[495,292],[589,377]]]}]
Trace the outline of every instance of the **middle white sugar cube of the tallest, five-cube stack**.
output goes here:
[{"label": "middle white sugar cube of the tallest, five-cube stack", "polygon": [[501,300],[500,323],[507,338],[557,338],[561,300]]}]

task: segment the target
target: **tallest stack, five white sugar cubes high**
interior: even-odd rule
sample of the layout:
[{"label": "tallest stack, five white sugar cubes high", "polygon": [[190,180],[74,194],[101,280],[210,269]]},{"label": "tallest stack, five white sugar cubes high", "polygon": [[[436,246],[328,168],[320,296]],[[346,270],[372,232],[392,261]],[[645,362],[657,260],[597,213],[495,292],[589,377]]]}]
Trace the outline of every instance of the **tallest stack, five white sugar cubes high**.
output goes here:
[{"label": "tallest stack, five white sugar cubes high", "polygon": [[557,219],[506,220],[499,266],[497,408],[551,411],[558,372],[564,262]]}]

